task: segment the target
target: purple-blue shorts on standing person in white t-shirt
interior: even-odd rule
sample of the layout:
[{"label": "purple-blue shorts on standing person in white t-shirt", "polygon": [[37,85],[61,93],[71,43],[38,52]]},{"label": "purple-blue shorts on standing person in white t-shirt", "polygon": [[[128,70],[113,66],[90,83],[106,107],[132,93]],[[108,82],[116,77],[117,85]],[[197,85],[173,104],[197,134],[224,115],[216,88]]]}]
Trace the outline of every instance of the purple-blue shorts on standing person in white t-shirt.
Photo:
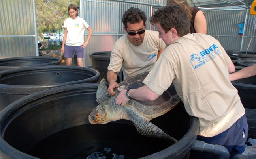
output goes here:
[{"label": "purple-blue shorts on standing person in white t-shirt", "polygon": [[74,53],[77,55],[77,58],[85,57],[81,46],[68,46],[65,44],[64,56],[66,58],[73,58]]}]

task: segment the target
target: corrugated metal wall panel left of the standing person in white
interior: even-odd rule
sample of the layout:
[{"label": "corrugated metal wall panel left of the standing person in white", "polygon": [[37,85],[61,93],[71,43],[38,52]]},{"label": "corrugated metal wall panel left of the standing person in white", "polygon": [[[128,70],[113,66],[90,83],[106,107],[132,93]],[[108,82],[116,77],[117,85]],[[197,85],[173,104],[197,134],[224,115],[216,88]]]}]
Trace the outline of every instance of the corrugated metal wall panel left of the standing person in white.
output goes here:
[{"label": "corrugated metal wall panel left of the standing person in white", "polygon": [[0,0],[0,58],[38,55],[34,0]]}]

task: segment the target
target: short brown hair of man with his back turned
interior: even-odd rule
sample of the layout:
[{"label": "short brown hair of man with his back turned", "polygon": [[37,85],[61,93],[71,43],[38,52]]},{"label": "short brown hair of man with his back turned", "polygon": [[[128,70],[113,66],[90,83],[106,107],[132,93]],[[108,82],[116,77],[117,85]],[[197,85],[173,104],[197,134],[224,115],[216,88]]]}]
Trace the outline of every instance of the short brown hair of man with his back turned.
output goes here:
[{"label": "short brown hair of man with his back turned", "polygon": [[149,22],[152,25],[159,23],[165,33],[174,28],[177,30],[179,37],[190,33],[190,19],[185,9],[179,4],[169,4],[158,9]]}]

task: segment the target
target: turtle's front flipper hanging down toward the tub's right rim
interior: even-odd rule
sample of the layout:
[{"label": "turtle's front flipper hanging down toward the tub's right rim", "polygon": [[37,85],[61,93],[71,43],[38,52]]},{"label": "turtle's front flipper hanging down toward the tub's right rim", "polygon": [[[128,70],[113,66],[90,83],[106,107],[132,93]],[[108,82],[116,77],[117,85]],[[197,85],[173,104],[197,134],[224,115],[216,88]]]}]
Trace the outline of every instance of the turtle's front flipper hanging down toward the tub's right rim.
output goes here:
[{"label": "turtle's front flipper hanging down toward the tub's right rim", "polygon": [[141,135],[166,139],[168,142],[169,141],[178,142],[178,140],[167,135],[164,131],[162,131],[162,129],[158,128],[152,122],[147,122],[143,120],[143,118],[139,116],[139,114],[136,111],[134,111],[134,109],[130,109],[128,111],[128,115],[129,115],[129,118],[134,123],[135,128]]}]

